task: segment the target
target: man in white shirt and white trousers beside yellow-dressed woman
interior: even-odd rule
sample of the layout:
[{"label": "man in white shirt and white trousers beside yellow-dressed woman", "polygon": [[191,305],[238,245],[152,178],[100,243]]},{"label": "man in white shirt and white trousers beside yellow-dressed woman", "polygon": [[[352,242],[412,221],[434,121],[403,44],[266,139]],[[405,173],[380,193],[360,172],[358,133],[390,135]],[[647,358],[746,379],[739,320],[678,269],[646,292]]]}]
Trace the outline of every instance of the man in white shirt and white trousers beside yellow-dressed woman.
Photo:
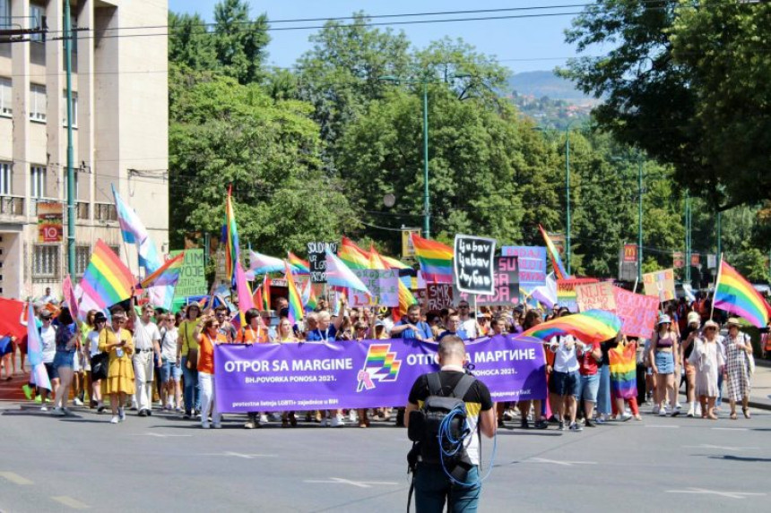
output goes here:
[{"label": "man in white shirt and white trousers beside yellow-dressed woman", "polygon": [[[134,309],[132,308],[130,312],[134,312]],[[158,357],[158,364],[160,365],[162,362],[160,331],[158,326],[151,321],[154,313],[152,305],[145,304],[142,308],[142,317],[134,323],[134,357],[132,360],[134,363],[136,403],[141,417],[152,415],[152,383],[155,369],[152,359],[153,353]]]}]

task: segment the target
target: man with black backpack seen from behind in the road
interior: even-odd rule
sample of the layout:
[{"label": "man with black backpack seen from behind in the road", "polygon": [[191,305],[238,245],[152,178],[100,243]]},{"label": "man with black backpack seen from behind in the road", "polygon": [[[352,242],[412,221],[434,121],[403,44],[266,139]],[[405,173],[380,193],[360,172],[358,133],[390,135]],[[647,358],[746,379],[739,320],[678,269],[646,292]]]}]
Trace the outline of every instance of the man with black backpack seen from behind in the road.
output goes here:
[{"label": "man with black backpack seen from behind in the road", "polygon": [[[441,370],[415,381],[405,408],[404,423],[416,442],[408,457],[415,509],[442,511],[447,502],[448,511],[476,511],[481,495],[480,433],[495,436],[495,408],[485,384],[464,372],[461,338],[442,338],[437,356]],[[442,440],[441,448],[437,440]]]}]

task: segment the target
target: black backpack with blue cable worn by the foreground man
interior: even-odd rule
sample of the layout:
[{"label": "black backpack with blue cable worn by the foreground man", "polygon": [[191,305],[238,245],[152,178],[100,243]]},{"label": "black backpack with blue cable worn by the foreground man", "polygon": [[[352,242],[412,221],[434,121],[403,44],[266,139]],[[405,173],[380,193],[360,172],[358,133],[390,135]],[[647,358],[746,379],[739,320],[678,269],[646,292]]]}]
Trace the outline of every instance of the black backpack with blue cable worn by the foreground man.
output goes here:
[{"label": "black backpack with blue cable worn by the foreground man", "polygon": [[[470,463],[463,447],[463,440],[471,433],[466,423],[466,407],[463,397],[476,378],[468,374],[455,385],[449,396],[442,395],[439,373],[432,372],[429,380],[429,397],[420,410],[411,412],[407,436],[415,442],[411,453],[420,455],[420,461],[428,465],[444,465],[453,469],[461,461]],[[451,415],[449,419],[447,416]],[[444,430],[441,429],[445,423]],[[440,444],[441,443],[441,448]],[[443,454],[440,452],[443,451]]]}]

